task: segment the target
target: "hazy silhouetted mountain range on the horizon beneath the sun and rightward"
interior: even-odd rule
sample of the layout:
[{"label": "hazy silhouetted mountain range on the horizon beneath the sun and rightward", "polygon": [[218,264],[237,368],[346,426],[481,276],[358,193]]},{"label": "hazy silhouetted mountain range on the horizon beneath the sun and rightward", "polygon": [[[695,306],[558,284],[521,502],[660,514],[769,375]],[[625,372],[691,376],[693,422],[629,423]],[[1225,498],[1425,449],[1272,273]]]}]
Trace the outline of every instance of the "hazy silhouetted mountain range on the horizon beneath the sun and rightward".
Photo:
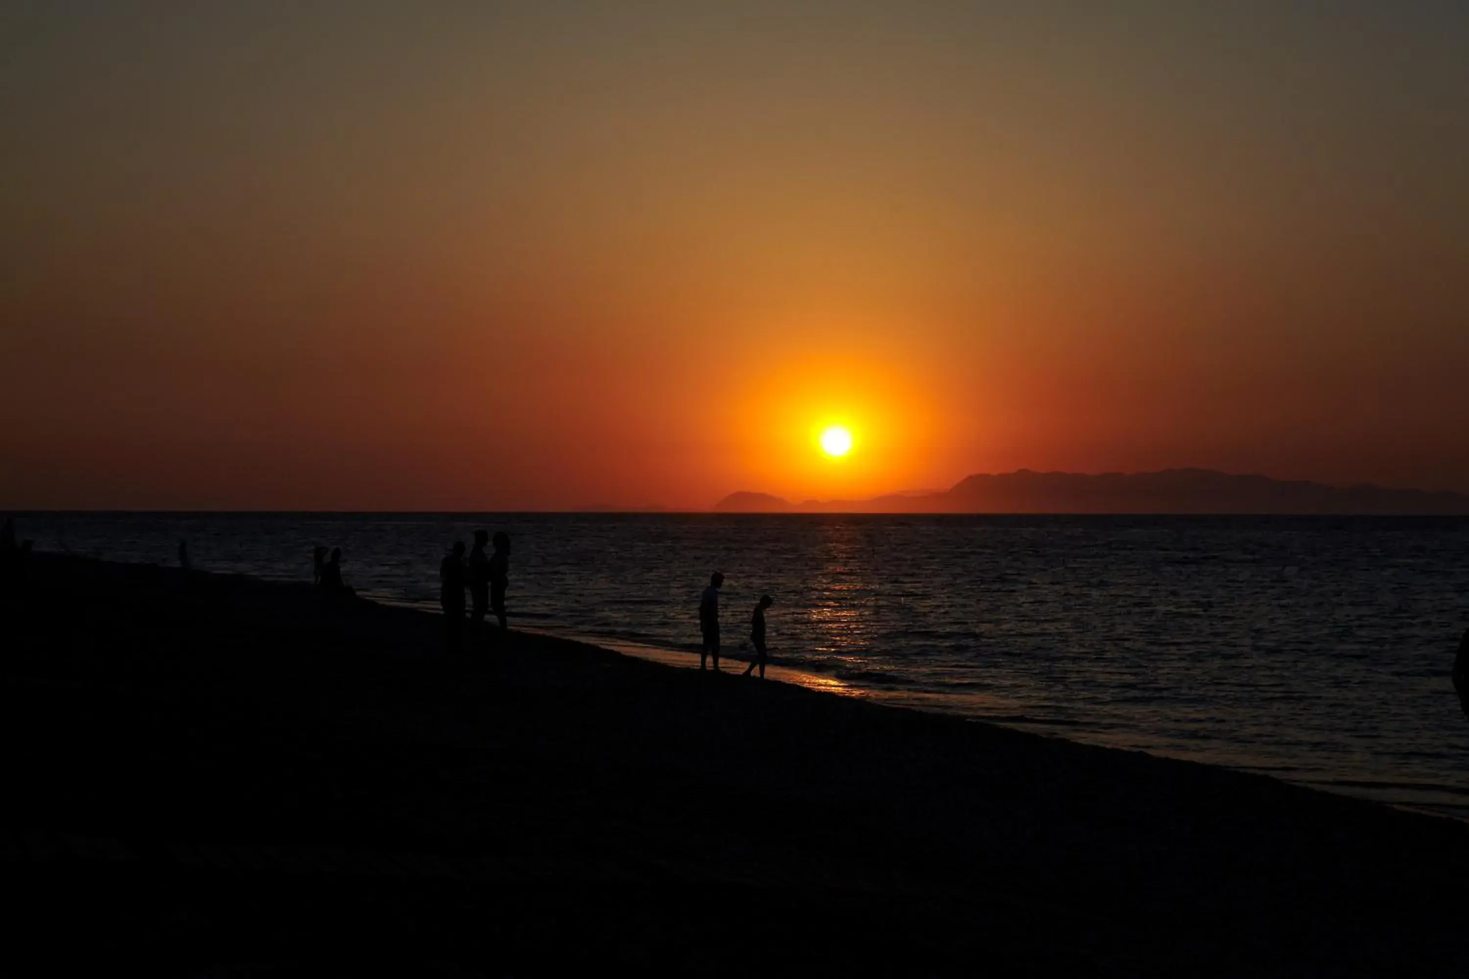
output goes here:
[{"label": "hazy silhouetted mountain range on the horizon beneath the sun and rightward", "polygon": [[718,512],[859,514],[1469,514],[1469,496],[1381,486],[1327,486],[1215,470],[1159,473],[981,473],[939,493],[792,503],[730,493]]}]

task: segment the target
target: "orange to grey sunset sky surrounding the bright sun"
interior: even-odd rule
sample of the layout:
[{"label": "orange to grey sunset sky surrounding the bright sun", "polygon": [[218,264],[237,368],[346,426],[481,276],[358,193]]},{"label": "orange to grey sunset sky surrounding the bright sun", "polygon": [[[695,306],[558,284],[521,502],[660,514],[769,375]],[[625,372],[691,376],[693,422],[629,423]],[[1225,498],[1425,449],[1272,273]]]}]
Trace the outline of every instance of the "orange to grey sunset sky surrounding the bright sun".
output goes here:
[{"label": "orange to grey sunset sky surrounding the bright sun", "polygon": [[4,4],[0,506],[1469,490],[1465,51],[1440,1]]}]

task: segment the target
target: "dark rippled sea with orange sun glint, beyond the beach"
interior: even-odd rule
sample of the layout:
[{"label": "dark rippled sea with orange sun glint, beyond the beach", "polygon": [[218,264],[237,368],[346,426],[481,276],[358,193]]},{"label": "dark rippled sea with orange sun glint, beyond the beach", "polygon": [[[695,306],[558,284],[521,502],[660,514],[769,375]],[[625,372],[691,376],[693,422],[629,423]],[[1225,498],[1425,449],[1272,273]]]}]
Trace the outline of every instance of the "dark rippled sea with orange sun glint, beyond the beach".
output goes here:
[{"label": "dark rippled sea with orange sun glint, beyond the beach", "polygon": [[43,549],[310,578],[436,606],[477,527],[514,540],[514,622],[726,649],[770,593],[771,652],[836,688],[1469,818],[1469,520],[871,515],[29,515]]}]

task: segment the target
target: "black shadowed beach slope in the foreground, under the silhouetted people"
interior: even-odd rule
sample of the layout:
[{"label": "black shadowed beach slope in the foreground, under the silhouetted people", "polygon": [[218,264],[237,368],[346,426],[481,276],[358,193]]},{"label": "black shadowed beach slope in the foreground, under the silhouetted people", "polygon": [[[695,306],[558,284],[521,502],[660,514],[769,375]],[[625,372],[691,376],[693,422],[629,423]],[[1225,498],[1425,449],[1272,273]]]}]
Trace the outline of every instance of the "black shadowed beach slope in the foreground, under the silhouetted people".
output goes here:
[{"label": "black shadowed beach slope in the foreground, under the silhouetted people", "polygon": [[1469,975],[1453,822],[244,578],[37,555],[3,612],[57,972]]}]

